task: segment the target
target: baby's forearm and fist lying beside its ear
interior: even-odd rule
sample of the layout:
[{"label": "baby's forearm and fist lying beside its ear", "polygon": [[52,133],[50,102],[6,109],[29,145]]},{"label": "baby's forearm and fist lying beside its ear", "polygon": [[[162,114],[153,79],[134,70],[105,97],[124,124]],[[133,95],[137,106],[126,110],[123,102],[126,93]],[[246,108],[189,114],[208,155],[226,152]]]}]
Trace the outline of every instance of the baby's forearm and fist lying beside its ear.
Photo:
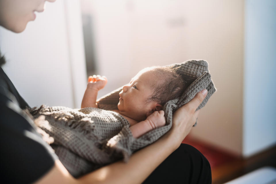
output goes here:
[{"label": "baby's forearm and fist lying beside its ear", "polygon": [[155,111],[146,120],[131,126],[130,130],[133,137],[138,138],[152,129],[164,126],[166,123],[164,114],[162,110]]}]

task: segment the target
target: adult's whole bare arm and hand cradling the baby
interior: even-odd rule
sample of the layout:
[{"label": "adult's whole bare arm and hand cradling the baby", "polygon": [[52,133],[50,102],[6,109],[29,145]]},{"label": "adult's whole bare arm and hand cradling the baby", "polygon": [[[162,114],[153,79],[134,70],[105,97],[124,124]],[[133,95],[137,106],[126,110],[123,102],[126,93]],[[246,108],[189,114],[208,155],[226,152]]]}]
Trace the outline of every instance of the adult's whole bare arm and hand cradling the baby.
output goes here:
[{"label": "adult's whole bare arm and hand cradling the baby", "polygon": [[[206,90],[207,94],[207,90]],[[156,142],[135,152],[127,163],[118,161],[74,179],[59,160],[38,183],[142,183],[175,151],[196,122],[196,108],[206,97],[204,90],[173,114],[173,126]]]}]

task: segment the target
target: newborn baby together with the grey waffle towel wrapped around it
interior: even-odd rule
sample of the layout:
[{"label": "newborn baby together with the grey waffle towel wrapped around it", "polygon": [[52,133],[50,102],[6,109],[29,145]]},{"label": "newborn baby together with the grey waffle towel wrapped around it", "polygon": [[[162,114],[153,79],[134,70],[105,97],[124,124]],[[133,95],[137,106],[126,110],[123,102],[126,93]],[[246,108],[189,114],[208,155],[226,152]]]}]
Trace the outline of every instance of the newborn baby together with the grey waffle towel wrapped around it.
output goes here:
[{"label": "newborn baby together with the grey waffle towel wrapped around it", "polygon": [[200,109],[215,91],[208,64],[202,60],[145,68],[96,103],[106,82],[105,77],[92,78],[80,110],[44,106],[31,110],[38,127],[53,137],[51,147],[74,177],[122,158],[127,161],[170,129],[177,108],[207,89]]}]

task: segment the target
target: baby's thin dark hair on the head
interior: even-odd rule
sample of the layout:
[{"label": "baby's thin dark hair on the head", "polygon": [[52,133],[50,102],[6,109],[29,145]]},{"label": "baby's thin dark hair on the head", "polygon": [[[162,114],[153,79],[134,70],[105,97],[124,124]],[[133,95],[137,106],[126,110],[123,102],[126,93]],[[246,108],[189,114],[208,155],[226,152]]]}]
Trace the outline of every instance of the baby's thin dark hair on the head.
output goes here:
[{"label": "baby's thin dark hair on the head", "polygon": [[156,81],[153,93],[146,101],[157,101],[162,106],[169,100],[180,97],[191,83],[190,78],[183,78],[172,67],[154,66],[149,69],[156,73]]}]

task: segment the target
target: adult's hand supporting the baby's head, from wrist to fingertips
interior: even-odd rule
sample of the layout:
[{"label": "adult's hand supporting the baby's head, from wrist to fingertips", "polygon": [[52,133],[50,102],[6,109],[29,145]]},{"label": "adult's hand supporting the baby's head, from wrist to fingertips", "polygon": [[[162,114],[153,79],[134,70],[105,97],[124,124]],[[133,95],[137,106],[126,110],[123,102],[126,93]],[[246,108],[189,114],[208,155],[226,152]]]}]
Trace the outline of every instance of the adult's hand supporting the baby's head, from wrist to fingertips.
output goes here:
[{"label": "adult's hand supporting the baby's head, from wrist to fingertips", "polygon": [[173,125],[168,133],[173,137],[176,146],[175,149],[180,146],[183,139],[191,131],[191,128],[195,124],[199,114],[199,110],[196,111],[196,109],[205,99],[207,93],[208,91],[206,89],[202,90],[196,94],[191,101],[177,109],[173,114]]}]

